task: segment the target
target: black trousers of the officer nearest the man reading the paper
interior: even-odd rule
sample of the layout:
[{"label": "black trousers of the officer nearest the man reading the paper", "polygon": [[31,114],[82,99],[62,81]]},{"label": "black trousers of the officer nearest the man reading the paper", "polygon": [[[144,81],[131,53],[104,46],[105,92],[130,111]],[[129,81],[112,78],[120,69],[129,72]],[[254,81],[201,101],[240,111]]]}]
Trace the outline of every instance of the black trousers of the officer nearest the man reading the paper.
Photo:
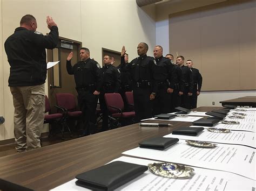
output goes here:
[{"label": "black trousers of the officer nearest the man reading the paper", "polygon": [[93,95],[92,90],[77,90],[77,92],[79,108],[83,112],[83,135],[90,135],[96,128],[98,96]]}]

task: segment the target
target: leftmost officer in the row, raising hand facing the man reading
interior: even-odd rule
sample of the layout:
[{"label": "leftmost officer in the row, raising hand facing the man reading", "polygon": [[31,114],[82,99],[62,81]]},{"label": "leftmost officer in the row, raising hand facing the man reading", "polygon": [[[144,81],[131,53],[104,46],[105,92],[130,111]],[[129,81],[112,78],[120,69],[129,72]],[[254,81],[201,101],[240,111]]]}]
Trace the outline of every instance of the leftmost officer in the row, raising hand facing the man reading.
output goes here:
[{"label": "leftmost officer in the row, raising hand facing the man reading", "polygon": [[78,93],[79,108],[83,113],[82,136],[89,135],[95,131],[96,107],[100,93],[100,65],[90,59],[88,48],[80,49],[80,59],[75,65],[71,65],[73,52],[66,59],[66,70],[74,75],[76,90]]}]

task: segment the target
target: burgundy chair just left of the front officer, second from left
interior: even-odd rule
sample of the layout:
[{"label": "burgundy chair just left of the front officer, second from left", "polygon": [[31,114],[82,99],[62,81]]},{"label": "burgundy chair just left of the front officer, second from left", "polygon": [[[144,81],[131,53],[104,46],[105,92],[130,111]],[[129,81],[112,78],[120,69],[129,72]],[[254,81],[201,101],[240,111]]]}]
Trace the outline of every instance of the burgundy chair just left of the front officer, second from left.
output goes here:
[{"label": "burgundy chair just left of the front officer, second from left", "polygon": [[56,103],[57,107],[61,108],[64,114],[65,126],[69,130],[70,135],[71,131],[66,123],[67,119],[74,119],[75,121],[79,121],[82,118],[82,111],[77,110],[75,96],[73,94],[56,94]]}]

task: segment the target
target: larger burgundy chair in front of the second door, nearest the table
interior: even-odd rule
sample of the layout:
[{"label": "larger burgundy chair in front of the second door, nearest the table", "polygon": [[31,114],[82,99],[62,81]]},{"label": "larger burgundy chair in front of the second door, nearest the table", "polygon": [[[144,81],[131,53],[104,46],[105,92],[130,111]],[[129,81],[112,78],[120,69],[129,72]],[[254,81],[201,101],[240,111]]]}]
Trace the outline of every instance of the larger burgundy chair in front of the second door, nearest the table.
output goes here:
[{"label": "larger burgundy chair in front of the second door, nearest the table", "polygon": [[107,109],[109,110],[110,117],[116,119],[113,121],[112,125],[119,127],[120,119],[132,119],[135,117],[134,111],[123,112],[124,110],[124,101],[120,94],[118,93],[109,93],[104,95]]}]

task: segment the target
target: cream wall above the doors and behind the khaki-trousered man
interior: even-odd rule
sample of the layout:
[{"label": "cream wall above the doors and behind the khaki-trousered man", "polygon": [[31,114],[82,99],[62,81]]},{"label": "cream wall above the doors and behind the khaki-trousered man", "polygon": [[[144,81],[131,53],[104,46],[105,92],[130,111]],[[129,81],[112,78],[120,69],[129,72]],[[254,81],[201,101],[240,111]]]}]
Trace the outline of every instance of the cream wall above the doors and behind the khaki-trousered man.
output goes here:
[{"label": "cream wall above the doors and behind the khaki-trousered man", "polygon": [[[4,41],[19,26],[27,13],[35,16],[38,31],[46,34],[46,16],[55,19],[59,35],[89,47],[91,57],[101,64],[102,47],[120,51],[126,45],[130,59],[137,56],[140,41],[149,44],[149,52],[156,44],[154,8],[138,8],[133,0],[0,0],[0,140],[14,137],[12,97],[8,87],[9,64],[4,52]],[[151,12],[149,15],[146,12]],[[2,39],[3,37],[3,39]],[[48,84],[46,84],[47,86]],[[47,89],[47,88],[46,88]],[[3,91],[2,91],[3,90]],[[46,131],[46,127],[43,131]]]}]

